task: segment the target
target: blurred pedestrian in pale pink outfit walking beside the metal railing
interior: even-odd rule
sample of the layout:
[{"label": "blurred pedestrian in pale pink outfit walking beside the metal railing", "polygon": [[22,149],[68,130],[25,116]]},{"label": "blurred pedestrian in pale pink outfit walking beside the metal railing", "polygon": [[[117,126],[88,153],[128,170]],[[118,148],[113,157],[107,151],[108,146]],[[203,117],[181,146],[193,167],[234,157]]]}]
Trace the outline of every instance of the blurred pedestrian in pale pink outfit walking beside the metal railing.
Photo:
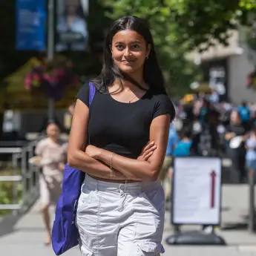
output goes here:
[{"label": "blurred pedestrian in pale pink outfit walking beside the metal railing", "polygon": [[62,191],[62,171],[66,161],[67,143],[59,139],[59,127],[50,123],[46,128],[47,138],[36,145],[36,155],[40,158],[39,174],[40,200],[47,237],[45,245],[51,243],[50,213],[51,204],[56,205]]}]

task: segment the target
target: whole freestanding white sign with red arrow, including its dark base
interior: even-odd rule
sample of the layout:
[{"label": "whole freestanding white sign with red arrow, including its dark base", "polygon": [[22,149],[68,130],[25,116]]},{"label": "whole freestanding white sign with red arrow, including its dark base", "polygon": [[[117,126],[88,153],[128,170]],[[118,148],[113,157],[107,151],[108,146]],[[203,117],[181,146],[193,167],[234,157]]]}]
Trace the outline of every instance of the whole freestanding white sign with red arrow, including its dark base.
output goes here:
[{"label": "whole freestanding white sign with red arrow, including its dark base", "polygon": [[220,225],[221,160],[218,157],[176,157],[172,179],[171,223],[202,225],[211,232],[174,232],[169,245],[226,245],[214,232]]}]

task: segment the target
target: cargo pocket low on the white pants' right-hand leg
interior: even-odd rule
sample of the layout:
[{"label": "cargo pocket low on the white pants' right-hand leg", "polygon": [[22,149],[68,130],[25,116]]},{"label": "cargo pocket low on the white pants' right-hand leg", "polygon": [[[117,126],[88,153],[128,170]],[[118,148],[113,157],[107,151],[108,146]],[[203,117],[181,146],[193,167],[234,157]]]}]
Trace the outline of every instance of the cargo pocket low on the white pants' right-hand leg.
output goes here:
[{"label": "cargo pocket low on the white pants' right-hand leg", "polygon": [[145,242],[138,244],[137,256],[159,256],[165,249],[161,243]]}]

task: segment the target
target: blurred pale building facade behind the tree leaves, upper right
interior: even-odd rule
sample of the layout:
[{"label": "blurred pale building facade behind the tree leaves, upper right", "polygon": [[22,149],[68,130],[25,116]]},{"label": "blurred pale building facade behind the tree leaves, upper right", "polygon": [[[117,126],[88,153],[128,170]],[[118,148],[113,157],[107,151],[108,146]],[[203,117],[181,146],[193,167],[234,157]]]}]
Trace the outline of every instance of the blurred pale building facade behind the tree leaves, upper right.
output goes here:
[{"label": "blurred pale building facade behind the tree leaves, upper right", "polygon": [[201,65],[207,82],[223,84],[222,99],[235,104],[243,100],[256,102],[256,91],[246,88],[246,78],[255,67],[256,53],[249,50],[242,30],[231,34],[228,47],[217,44],[203,53],[194,51],[188,58]]}]

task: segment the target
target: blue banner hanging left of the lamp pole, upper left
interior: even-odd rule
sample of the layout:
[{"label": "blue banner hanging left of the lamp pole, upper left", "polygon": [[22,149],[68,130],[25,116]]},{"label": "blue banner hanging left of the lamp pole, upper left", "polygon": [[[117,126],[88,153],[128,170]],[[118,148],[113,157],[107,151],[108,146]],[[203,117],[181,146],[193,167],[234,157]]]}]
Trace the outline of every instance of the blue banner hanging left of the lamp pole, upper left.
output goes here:
[{"label": "blue banner hanging left of the lamp pole, upper left", "polygon": [[45,50],[46,0],[16,0],[16,50]]}]

